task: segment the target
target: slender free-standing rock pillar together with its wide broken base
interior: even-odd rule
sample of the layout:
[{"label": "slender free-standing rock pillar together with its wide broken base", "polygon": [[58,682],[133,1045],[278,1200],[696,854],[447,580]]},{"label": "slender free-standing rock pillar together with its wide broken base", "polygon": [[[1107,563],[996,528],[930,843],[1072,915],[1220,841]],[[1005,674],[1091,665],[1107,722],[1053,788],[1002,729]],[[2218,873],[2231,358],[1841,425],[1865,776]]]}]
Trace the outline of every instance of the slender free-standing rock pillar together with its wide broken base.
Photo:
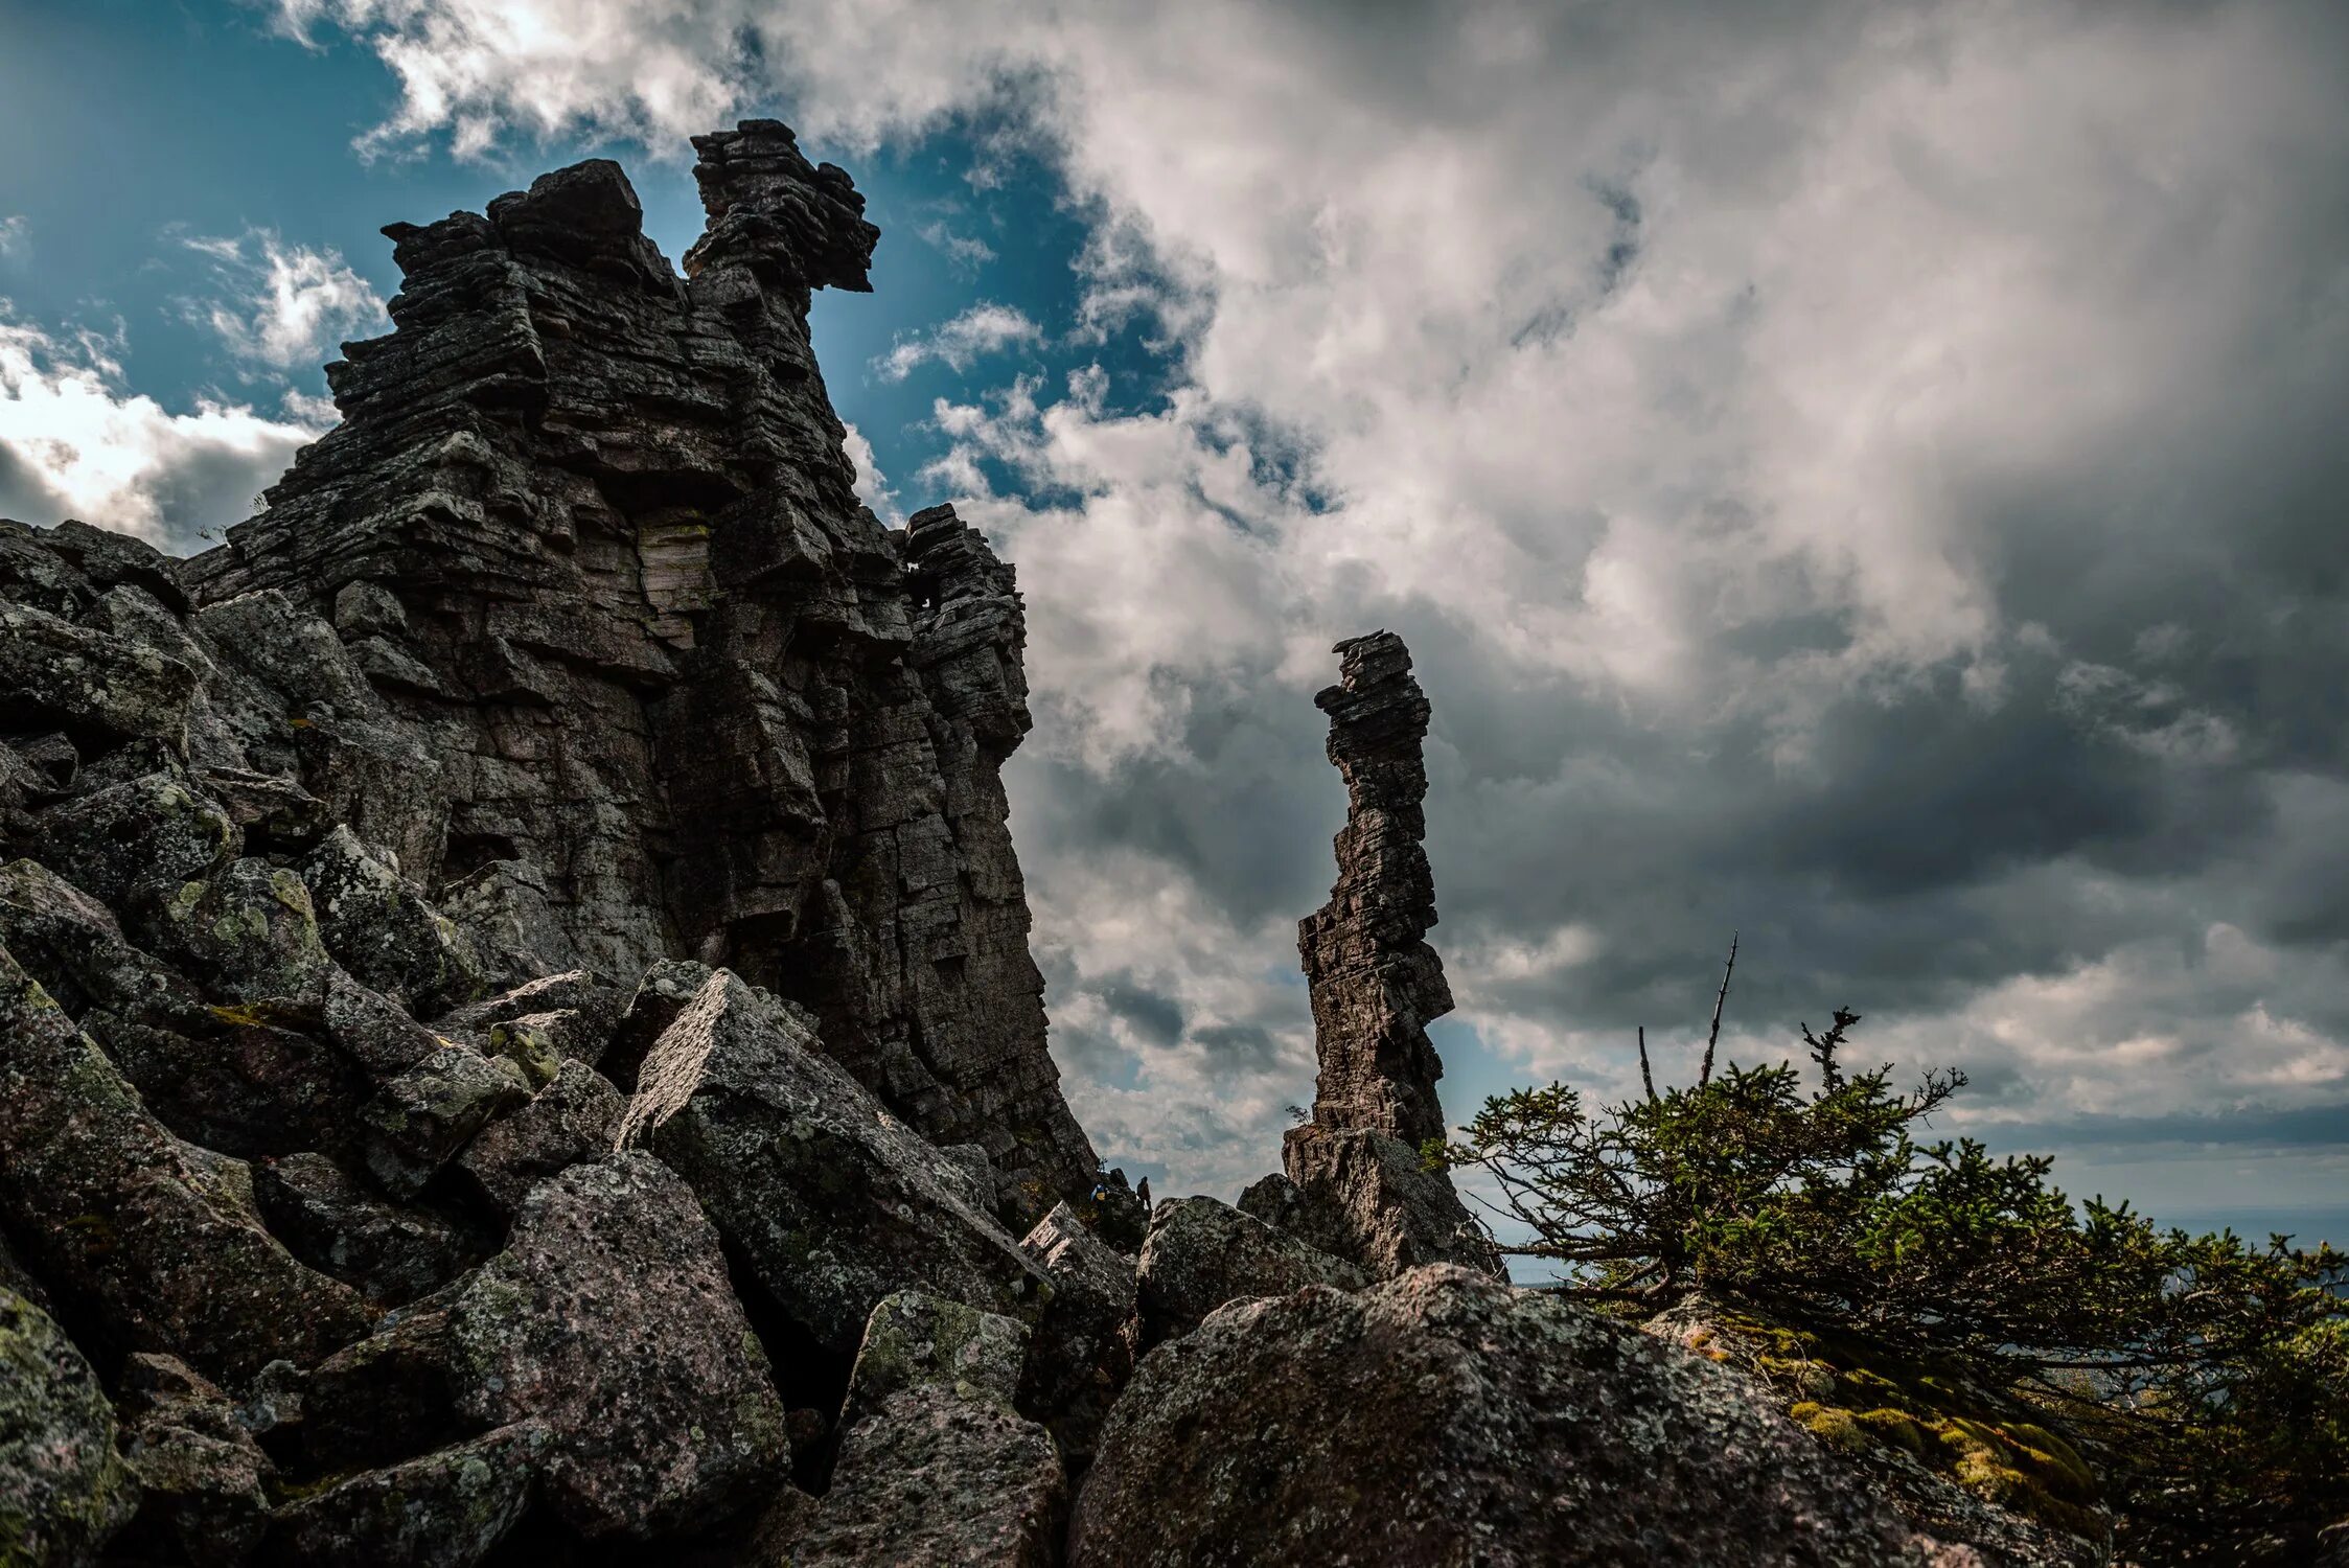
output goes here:
[{"label": "slender free-standing rock pillar together with its wide broken base", "polygon": [[1339,683],[1313,704],[1330,714],[1346,826],[1337,887],[1297,927],[1320,1080],[1313,1120],[1283,1148],[1297,1192],[1259,1183],[1243,1209],[1381,1277],[1421,1263],[1499,1272],[1452,1181],[1423,1169],[1419,1155],[1445,1131],[1435,1099],[1445,1063],[1426,1026],[1452,1012],[1445,965],[1426,944],[1435,925],[1435,873],[1421,847],[1428,697],[1393,631],[1346,638],[1337,655]]}]

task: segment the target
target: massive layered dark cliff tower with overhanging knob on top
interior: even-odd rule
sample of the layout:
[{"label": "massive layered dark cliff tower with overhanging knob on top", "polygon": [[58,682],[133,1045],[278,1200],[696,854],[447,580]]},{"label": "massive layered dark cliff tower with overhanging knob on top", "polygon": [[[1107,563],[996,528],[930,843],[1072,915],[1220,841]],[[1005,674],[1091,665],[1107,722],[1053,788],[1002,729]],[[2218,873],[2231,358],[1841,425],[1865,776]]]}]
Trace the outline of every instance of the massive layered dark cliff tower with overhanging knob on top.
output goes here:
[{"label": "massive layered dark cliff tower with overhanging knob on top", "polygon": [[395,331],[343,347],[343,423],[188,584],[331,620],[390,737],[327,692],[301,744],[517,955],[493,979],[723,962],[923,1136],[984,1145],[1024,1223],[1097,1162],[1005,829],[1012,570],[951,509],[888,530],[855,498],[808,343],[813,289],[867,289],[850,178],[770,120],[695,148],[686,277],[604,160],[390,225]]}]

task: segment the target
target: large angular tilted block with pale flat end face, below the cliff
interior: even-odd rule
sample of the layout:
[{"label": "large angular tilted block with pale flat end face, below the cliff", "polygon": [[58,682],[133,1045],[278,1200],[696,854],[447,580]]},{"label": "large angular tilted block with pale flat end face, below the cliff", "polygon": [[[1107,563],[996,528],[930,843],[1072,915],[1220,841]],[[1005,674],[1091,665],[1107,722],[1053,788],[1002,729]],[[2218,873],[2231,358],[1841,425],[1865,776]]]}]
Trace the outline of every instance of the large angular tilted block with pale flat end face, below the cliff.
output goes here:
[{"label": "large angular tilted block with pale flat end face, below the cliff", "polygon": [[1050,1293],[944,1155],[820,1056],[803,1014],[726,969],[660,1035],[622,1138],[693,1183],[759,1286],[834,1354],[893,1291],[1022,1322]]}]

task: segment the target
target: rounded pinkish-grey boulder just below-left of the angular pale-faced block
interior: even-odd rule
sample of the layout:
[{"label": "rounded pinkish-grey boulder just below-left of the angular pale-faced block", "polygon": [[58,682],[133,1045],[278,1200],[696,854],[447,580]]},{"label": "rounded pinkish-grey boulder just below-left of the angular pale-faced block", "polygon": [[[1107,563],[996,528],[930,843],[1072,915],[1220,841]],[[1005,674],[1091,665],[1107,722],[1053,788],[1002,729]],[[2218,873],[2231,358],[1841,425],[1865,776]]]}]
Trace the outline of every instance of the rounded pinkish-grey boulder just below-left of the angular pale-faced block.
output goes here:
[{"label": "rounded pinkish-grey boulder just below-left of the angular pale-faced block", "polygon": [[716,1230],[651,1155],[540,1183],[449,1326],[458,1411],[540,1422],[547,1505],[587,1537],[707,1523],[785,1474],[782,1399]]}]

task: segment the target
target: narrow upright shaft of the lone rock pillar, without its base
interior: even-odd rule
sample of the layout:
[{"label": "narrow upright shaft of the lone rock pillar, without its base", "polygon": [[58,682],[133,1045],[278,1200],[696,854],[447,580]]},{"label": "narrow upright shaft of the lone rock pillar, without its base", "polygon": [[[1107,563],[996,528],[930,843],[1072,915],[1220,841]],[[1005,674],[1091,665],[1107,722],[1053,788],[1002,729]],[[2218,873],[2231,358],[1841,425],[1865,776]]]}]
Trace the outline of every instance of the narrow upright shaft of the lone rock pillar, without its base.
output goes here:
[{"label": "narrow upright shaft of the lone rock pillar, without its base", "polygon": [[1435,1080],[1445,1063],[1428,1021],[1452,1012],[1445,965],[1423,937],[1435,925],[1435,873],[1421,847],[1428,697],[1393,631],[1337,646],[1339,683],[1313,704],[1330,714],[1330,761],[1346,779],[1337,887],[1297,930],[1313,991],[1320,1082],[1313,1120],[1419,1145],[1442,1136]]}]

